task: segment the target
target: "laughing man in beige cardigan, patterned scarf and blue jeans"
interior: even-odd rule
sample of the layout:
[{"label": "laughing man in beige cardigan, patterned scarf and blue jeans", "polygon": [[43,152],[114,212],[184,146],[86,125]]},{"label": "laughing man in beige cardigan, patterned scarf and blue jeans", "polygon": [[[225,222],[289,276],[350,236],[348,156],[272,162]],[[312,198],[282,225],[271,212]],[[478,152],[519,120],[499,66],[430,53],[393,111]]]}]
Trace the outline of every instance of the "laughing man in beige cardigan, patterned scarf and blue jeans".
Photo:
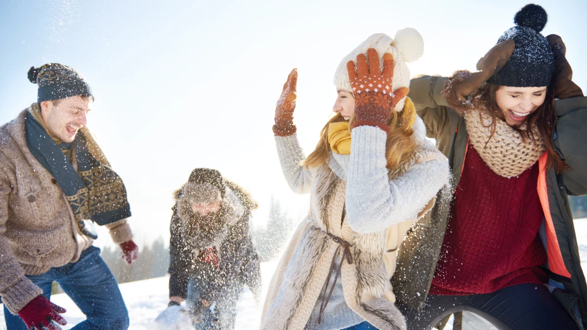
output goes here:
[{"label": "laughing man in beige cardigan, patterned scarf and blue jeans", "polygon": [[[49,301],[53,281],[86,315],[77,327],[127,329],[112,272],[92,245],[105,225],[124,260],[137,245],[120,177],[86,128],[93,94],[72,68],[31,68],[37,102],[0,127],[0,295],[10,330],[59,329],[65,309]],[[56,323],[57,324],[56,324]],[[76,327],[76,328],[77,328]]]}]

